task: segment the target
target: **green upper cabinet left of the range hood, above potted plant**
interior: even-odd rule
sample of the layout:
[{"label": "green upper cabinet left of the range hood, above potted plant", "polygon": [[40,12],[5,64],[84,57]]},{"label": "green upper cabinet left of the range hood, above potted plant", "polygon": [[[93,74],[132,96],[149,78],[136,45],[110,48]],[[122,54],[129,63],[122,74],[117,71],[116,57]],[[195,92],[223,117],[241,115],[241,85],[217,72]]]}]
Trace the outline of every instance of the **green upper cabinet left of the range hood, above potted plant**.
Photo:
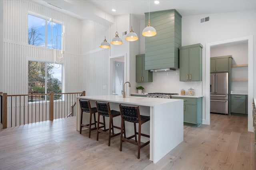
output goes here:
[{"label": "green upper cabinet left of the range hood, above potted plant", "polygon": [[145,70],[145,54],[136,55],[136,82],[153,82],[153,73]]}]

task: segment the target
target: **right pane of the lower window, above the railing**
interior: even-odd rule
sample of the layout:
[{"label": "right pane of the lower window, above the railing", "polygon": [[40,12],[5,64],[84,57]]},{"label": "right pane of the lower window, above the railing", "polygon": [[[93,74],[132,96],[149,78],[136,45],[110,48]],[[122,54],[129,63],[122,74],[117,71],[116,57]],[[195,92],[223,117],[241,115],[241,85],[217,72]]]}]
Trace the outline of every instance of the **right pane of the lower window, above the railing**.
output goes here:
[{"label": "right pane of the lower window, above the railing", "polygon": [[47,93],[62,92],[62,65],[55,64],[55,67],[52,63],[47,64]]}]

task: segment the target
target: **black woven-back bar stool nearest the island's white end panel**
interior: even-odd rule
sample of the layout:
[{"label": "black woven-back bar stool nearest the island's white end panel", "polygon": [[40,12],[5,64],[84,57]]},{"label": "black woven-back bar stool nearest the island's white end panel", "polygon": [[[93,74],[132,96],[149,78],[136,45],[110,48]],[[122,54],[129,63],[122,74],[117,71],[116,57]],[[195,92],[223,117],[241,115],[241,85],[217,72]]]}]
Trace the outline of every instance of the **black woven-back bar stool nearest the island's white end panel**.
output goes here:
[{"label": "black woven-back bar stool nearest the island's white end panel", "polygon": [[[135,107],[131,107],[131,106],[124,106],[122,104],[119,104],[120,107],[120,113],[121,113],[121,134],[120,134],[120,151],[122,151],[122,143],[123,141],[132,143],[134,145],[137,145],[138,147],[138,159],[140,158],[140,149],[143,148],[144,146],[148,145],[150,143],[150,141],[147,141],[146,143],[142,144],[140,143],[140,137],[144,136],[144,137],[150,137],[150,135],[146,135],[141,133],[141,125],[143,123],[146,123],[147,121],[150,120],[150,116],[143,116],[140,115],[140,109],[139,106],[135,106]],[[123,129],[125,129],[124,126],[124,121],[129,121],[134,123],[134,135],[130,136],[130,137],[123,137]],[[138,132],[136,131],[136,123],[138,123]],[[137,140],[137,135],[138,135],[138,140]],[[132,138],[135,137],[135,141],[132,140]]]}]

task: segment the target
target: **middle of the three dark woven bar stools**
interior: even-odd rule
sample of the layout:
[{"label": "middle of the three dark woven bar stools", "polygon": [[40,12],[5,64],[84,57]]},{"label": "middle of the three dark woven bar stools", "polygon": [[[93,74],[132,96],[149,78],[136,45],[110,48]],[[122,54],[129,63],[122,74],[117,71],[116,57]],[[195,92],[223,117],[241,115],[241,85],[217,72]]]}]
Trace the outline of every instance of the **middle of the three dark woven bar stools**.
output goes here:
[{"label": "middle of the three dark woven bar stools", "polygon": [[[120,133],[114,134],[114,128],[121,129],[118,126],[114,126],[113,124],[113,117],[120,116],[120,112],[116,110],[110,110],[109,103],[102,103],[96,101],[96,107],[98,111],[98,125],[97,125],[97,141],[99,139],[99,133],[104,133],[108,135],[108,146],[110,146],[110,138],[115,137],[117,135],[120,135]],[[103,117],[103,123],[100,122],[100,115]],[[109,127],[106,129],[105,124],[105,117],[109,117]],[[100,124],[103,124],[103,126],[100,127]],[[101,129],[104,127],[104,129]],[[112,135],[111,135],[112,130]]]}]

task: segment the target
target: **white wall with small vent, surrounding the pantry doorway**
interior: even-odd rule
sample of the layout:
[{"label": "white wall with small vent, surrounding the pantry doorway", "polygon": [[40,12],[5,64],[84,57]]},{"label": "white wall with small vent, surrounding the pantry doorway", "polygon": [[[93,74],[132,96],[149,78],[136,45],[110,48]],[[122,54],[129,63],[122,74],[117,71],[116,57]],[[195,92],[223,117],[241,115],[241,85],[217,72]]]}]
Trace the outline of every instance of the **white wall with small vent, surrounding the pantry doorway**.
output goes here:
[{"label": "white wall with small vent, surrounding the pantry doorway", "polygon": [[[200,18],[204,16],[210,16],[210,21],[205,23],[200,23]],[[230,12],[230,13],[220,13],[220,14],[204,14],[200,16],[185,16],[182,18],[182,46],[190,45],[194,43],[201,43],[203,48],[203,81],[202,89],[203,95],[205,96],[203,101],[203,122],[210,123],[209,110],[206,107],[208,103],[206,99],[209,97],[208,82],[210,73],[209,59],[206,59],[206,45],[211,42],[223,41],[228,39],[235,39],[237,37],[245,37],[248,35],[256,35],[256,23],[252,22],[256,16],[256,11],[243,11],[243,12]],[[256,40],[253,39],[255,44]],[[256,51],[256,47],[252,47],[253,51]],[[250,55],[249,55],[250,56]],[[253,54],[255,58],[256,54]],[[209,56],[210,57],[210,56]],[[251,63],[252,64],[252,63]],[[255,65],[255,61],[253,62]],[[251,78],[253,84],[255,84],[255,71],[253,72]],[[249,81],[248,81],[249,82]],[[251,90],[252,93],[249,94],[248,101],[252,103],[252,98],[255,96],[255,91]],[[249,105],[250,106],[250,105]],[[252,106],[250,106],[252,107]],[[248,107],[248,110],[251,108]],[[252,118],[248,115],[248,129],[252,130],[251,120]]]}]

